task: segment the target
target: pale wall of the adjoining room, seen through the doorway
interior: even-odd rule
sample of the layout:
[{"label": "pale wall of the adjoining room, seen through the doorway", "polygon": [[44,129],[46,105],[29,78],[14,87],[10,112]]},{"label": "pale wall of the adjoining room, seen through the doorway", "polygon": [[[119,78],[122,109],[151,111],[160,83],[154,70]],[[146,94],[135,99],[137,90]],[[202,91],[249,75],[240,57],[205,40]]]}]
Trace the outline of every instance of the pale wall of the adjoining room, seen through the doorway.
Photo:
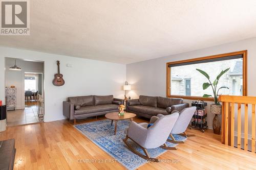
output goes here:
[{"label": "pale wall of the adjoining room, seen through the doorway", "polygon": [[44,73],[44,63],[43,62],[32,62],[16,60],[17,66],[22,68],[21,71],[9,70],[8,68],[14,65],[14,58],[6,58],[5,60],[5,87],[15,86],[17,89],[16,96],[16,108],[25,108],[25,97],[24,97],[24,79],[25,72],[41,72]]}]

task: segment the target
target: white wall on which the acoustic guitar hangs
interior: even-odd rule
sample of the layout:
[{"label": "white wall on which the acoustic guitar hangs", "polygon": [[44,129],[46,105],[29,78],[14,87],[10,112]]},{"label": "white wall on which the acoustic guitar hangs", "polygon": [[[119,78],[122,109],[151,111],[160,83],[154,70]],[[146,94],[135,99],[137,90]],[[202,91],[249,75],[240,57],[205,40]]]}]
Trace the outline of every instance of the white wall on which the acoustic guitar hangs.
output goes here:
[{"label": "white wall on which the acoustic guitar hangs", "polygon": [[[123,98],[124,64],[0,47],[0,100],[5,99],[5,69],[8,69],[5,68],[5,57],[44,61],[46,122],[64,118],[62,101],[68,96],[113,94],[115,98]],[[66,82],[60,87],[52,84],[57,72],[56,60],[60,60],[60,73]],[[73,67],[66,67],[67,63]]]}]

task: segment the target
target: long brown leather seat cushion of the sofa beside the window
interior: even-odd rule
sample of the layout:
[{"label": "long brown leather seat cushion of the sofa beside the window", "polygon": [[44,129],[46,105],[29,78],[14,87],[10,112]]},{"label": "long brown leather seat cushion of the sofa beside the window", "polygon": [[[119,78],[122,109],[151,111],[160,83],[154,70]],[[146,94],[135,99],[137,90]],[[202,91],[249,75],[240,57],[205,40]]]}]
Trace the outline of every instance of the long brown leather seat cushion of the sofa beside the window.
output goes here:
[{"label": "long brown leather seat cushion of the sofa beside the window", "polygon": [[144,114],[150,114],[156,116],[157,114],[168,115],[167,111],[163,108],[157,108],[152,106],[143,106],[143,105],[133,105],[128,106],[128,109],[135,112],[140,112]]}]

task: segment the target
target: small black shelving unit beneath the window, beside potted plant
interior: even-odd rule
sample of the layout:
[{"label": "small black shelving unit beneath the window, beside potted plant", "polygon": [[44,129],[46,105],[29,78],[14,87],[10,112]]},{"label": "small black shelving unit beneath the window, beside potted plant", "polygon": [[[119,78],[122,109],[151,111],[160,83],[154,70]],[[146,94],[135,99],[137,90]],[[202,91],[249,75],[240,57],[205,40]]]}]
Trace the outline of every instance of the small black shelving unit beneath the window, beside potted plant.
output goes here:
[{"label": "small black shelving unit beneath the window, beside potted plant", "polygon": [[[204,101],[200,102],[192,102],[191,106],[196,106],[197,110],[195,111],[195,114],[193,115],[193,121],[191,122],[190,129],[195,128],[201,130],[201,132],[204,132],[206,129],[208,129],[207,122],[205,118],[207,117],[207,114],[205,115],[198,115],[198,110],[199,109],[204,109],[205,106],[207,106],[207,103]],[[201,119],[201,122],[199,122],[199,119]]]}]

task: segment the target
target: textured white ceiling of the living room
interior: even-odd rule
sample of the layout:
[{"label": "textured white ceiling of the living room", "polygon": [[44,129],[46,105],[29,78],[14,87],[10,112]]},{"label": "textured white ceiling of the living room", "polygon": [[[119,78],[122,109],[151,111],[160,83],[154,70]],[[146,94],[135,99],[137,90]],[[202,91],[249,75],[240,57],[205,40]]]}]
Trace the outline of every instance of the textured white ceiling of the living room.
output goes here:
[{"label": "textured white ceiling of the living room", "polygon": [[132,63],[256,37],[255,0],[30,4],[30,36],[0,36],[0,45]]}]

